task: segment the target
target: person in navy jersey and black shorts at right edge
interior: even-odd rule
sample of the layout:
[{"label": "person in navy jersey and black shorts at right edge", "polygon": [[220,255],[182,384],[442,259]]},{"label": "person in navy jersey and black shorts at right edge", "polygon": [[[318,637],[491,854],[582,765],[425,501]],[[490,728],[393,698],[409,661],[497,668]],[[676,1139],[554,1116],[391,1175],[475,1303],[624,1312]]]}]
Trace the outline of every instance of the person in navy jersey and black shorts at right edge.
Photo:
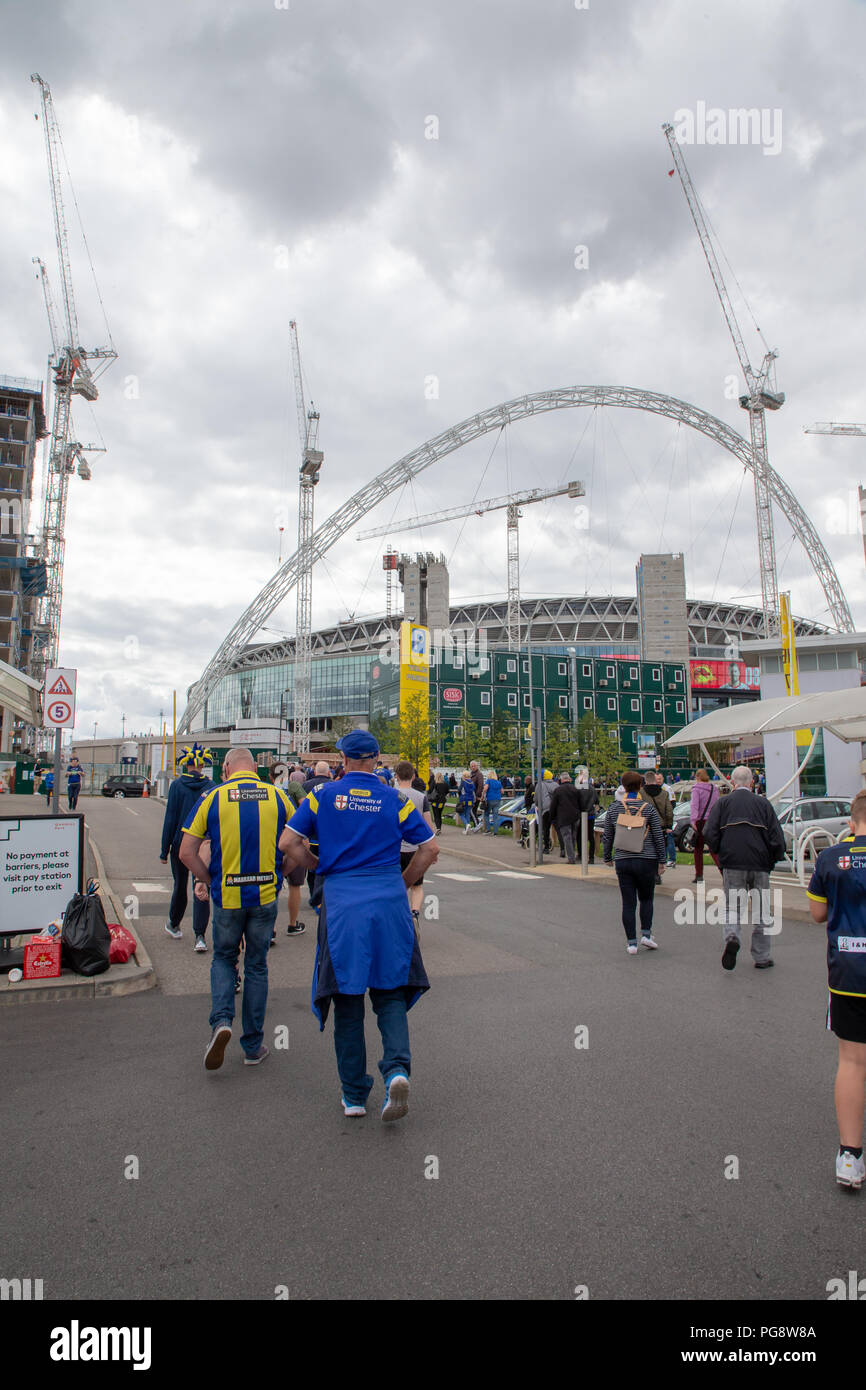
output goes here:
[{"label": "person in navy jersey and black shorts at right edge", "polygon": [[827,1029],[838,1038],[835,1180],[856,1191],[866,1180],[866,791],[851,802],[851,828],[853,840],[822,849],[808,891],[812,919],[827,923]]}]

